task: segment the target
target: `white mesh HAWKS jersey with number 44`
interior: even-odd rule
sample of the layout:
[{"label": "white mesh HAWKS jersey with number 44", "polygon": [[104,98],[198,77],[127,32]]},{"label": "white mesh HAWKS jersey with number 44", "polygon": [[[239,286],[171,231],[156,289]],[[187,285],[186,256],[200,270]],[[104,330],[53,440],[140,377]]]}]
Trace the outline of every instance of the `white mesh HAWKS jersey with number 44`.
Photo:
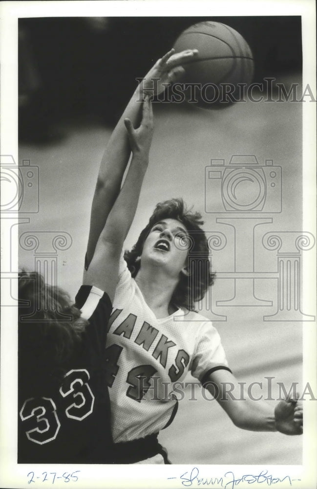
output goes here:
[{"label": "white mesh HAWKS jersey with number 44", "polygon": [[179,309],[157,319],[121,257],[106,356],[114,442],[157,433],[177,409],[174,388],[227,368],[220,336],[204,316]]}]

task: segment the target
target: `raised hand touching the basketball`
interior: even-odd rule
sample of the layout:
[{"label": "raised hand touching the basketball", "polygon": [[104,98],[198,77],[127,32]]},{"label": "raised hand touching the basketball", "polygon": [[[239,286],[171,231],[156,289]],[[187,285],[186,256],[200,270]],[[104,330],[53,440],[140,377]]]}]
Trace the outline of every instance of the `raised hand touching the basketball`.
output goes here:
[{"label": "raised hand touching the basketball", "polygon": [[142,80],[143,93],[151,96],[162,93],[166,84],[174,83],[184,73],[182,64],[189,62],[197,54],[197,49],[186,49],[180,53],[175,53],[175,49],[171,49],[155,63]]}]

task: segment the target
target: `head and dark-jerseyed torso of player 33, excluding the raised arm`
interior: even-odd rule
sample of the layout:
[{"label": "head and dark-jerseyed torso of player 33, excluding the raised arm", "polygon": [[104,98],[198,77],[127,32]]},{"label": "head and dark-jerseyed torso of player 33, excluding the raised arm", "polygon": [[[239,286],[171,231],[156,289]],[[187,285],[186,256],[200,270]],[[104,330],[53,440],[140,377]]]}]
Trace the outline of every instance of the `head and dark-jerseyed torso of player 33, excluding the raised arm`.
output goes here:
[{"label": "head and dark-jerseyed torso of player 33, excluding the raised arm", "polygon": [[41,275],[19,274],[19,297],[30,297],[30,307],[19,311],[18,462],[105,463],[112,440],[103,345],[111,301],[106,292],[83,285],[72,306],[55,289],[54,310],[43,314],[41,304],[32,314],[35,285],[43,301],[52,298]]}]

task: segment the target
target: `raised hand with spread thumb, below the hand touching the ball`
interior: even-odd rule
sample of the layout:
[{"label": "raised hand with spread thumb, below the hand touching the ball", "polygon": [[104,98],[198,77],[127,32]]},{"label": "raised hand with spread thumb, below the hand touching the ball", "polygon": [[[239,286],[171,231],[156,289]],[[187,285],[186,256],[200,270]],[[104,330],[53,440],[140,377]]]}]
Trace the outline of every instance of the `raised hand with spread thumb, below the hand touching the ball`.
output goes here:
[{"label": "raised hand with spread thumb, below the hand touching the ball", "polygon": [[144,97],[140,127],[135,129],[130,119],[125,119],[125,126],[133,156],[148,160],[153,137],[153,110],[148,95]]}]

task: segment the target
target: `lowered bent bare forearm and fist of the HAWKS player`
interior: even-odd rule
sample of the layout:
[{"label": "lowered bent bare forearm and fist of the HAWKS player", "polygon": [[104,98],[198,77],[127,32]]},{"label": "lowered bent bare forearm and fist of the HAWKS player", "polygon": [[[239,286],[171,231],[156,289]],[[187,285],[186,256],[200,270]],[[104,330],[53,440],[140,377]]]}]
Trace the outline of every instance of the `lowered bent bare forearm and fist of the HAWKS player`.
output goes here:
[{"label": "lowered bent bare forearm and fist of the HAWKS player", "polygon": [[239,428],[287,435],[302,433],[302,407],[296,400],[280,401],[273,409],[263,400],[241,396],[237,379],[227,370],[217,370],[209,380],[207,389]]}]

